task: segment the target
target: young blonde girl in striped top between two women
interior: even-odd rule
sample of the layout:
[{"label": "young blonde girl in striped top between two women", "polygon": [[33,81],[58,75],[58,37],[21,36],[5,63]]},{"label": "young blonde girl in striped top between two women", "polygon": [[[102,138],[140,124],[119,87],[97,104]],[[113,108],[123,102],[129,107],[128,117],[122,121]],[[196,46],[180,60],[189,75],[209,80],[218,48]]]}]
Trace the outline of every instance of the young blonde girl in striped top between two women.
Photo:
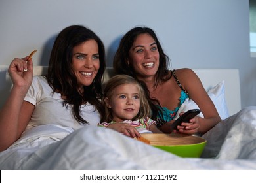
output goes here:
[{"label": "young blonde girl in striped top between two women", "polygon": [[[140,83],[132,76],[116,75],[108,81],[104,90],[106,116],[100,127],[127,123],[139,133],[162,133],[156,122],[150,119],[150,106]],[[127,129],[129,133],[129,130]]]}]

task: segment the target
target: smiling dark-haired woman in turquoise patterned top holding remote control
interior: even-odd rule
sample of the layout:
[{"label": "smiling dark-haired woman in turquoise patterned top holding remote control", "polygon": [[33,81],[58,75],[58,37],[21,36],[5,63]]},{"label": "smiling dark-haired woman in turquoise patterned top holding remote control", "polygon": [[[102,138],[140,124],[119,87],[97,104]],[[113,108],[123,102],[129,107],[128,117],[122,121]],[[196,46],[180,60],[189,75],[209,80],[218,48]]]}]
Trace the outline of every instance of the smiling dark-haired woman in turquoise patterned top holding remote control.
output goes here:
[{"label": "smiling dark-haired woman in turquoise patterned top holding remote control", "polygon": [[[144,83],[150,93],[152,113],[156,114],[158,128],[171,133],[171,124],[186,99],[192,99],[204,118],[196,116],[188,123],[178,125],[177,131],[184,134],[205,133],[221,118],[203,88],[200,78],[192,69],[169,71],[169,57],[163,52],[156,33],[149,27],[134,27],[120,41],[114,57],[117,74],[135,77]],[[160,110],[160,112],[158,110]]]}]

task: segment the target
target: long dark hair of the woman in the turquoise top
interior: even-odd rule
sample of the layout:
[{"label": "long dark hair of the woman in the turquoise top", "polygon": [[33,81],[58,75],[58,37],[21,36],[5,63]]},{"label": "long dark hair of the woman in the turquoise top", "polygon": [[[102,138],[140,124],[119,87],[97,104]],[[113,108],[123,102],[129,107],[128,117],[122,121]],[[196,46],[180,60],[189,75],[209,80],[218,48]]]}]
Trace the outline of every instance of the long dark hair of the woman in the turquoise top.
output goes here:
[{"label": "long dark hair of the woman in the turquoise top", "polygon": [[[117,74],[125,74],[129,76],[135,77],[137,80],[137,75],[131,65],[128,65],[127,60],[129,60],[129,50],[133,46],[133,42],[137,39],[138,35],[141,34],[148,34],[150,35],[154,41],[156,42],[156,46],[158,47],[159,52],[159,67],[158,71],[156,72],[156,77],[154,80],[154,88],[158,86],[161,82],[165,80],[169,80],[171,78],[171,74],[169,73],[169,66],[171,66],[171,61],[167,54],[163,52],[163,48],[161,47],[160,42],[158,41],[158,37],[154,31],[148,27],[135,27],[128,31],[121,39],[119,47],[117,48],[116,54],[114,56],[113,61],[113,67],[114,71]],[[152,109],[152,118],[156,119],[156,116],[158,115],[158,112],[162,113],[161,110],[154,105],[154,103],[157,103],[159,106],[160,103],[157,99],[150,98],[150,92],[148,88],[146,87],[146,84],[142,81],[140,81],[140,84],[143,86],[146,93],[146,97],[148,97],[148,101],[150,103],[150,107]]]}]

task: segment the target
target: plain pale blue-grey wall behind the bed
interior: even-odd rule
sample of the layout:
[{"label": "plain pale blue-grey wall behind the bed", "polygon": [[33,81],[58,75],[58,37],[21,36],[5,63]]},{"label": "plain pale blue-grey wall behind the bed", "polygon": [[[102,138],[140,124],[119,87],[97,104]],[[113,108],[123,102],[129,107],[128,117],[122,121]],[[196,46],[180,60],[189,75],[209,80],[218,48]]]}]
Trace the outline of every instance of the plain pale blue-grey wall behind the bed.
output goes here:
[{"label": "plain pale blue-grey wall behind the bed", "polygon": [[172,68],[238,68],[242,107],[256,105],[248,0],[0,0],[0,65],[33,49],[38,50],[34,64],[47,65],[54,37],[74,24],[101,37],[108,67],[125,32],[151,27]]}]

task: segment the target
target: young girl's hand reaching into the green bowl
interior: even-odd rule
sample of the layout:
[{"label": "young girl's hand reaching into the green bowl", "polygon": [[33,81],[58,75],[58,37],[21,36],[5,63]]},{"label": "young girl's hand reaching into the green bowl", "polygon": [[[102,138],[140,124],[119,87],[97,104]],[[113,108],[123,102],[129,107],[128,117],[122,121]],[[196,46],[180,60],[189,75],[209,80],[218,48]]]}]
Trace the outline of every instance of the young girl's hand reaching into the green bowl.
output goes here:
[{"label": "young girl's hand reaching into the green bowl", "polygon": [[108,125],[108,128],[114,129],[119,133],[123,133],[128,137],[132,137],[132,138],[141,137],[139,131],[137,131],[137,129],[135,129],[135,127],[131,126],[130,124],[124,124],[124,123],[110,124]]}]

